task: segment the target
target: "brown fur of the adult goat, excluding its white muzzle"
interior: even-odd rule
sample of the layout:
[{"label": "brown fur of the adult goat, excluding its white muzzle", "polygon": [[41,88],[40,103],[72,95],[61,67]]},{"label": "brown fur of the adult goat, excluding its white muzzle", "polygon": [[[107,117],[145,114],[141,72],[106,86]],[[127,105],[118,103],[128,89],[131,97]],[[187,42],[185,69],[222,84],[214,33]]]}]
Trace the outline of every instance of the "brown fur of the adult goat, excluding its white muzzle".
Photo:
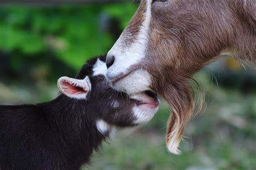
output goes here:
[{"label": "brown fur of the adult goat, excluding its white muzzle", "polygon": [[[140,10],[144,9],[142,1]],[[255,0],[177,0],[152,3],[150,40],[143,67],[153,78],[152,89],[172,107],[167,144],[180,142],[194,112],[192,75],[222,52],[256,60]],[[137,15],[141,17],[141,15]],[[134,21],[128,25],[137,32]],[[132,26],[131,26],[132,25]],[[137,28],[136,28],[137,25]],[[134,32],[131,31],[131,32]]]}]

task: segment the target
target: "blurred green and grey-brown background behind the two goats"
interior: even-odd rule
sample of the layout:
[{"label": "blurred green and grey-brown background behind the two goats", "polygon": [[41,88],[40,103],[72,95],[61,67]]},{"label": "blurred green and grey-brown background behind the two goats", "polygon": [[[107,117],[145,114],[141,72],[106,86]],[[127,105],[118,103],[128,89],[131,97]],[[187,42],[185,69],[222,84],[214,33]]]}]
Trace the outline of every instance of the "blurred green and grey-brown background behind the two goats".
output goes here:
[{"label": "blurred green and grey-brown background behind the two goats", "polygon": [[[137,7],[132,1],[2,5],[0,104],[55,98],[57,79],[106,53]],[[195,78],[206,93],[205,110],[188,124],[181,155],[166,151],[169,107],[162,101],[149,124],[118,132],[83,169],[256,169],[255,68],[222,58]]]}]

